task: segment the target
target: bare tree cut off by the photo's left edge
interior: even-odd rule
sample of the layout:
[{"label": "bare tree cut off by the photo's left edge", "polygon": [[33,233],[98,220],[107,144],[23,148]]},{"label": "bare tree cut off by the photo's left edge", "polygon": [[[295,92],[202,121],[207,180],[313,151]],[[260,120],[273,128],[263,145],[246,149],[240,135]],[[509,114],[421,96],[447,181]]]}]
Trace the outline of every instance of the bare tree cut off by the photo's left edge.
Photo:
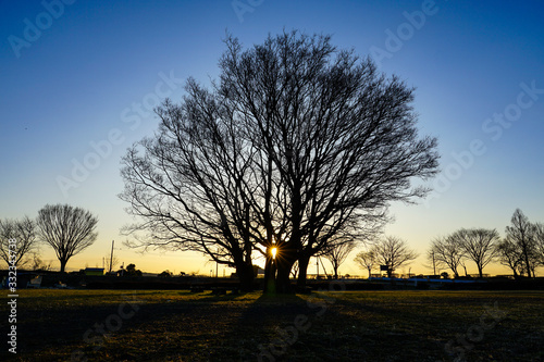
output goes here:
[{"label": "bare tree cut off by the photo's left edge", "polygon": [[[15,240],[15,247],[10,248],[10,240]],[[0,257],[10,264],[12,253],[17,267],[29,262],[25,259],[37,246],[36,223],[28,216],[21,220],[0,220]]]}]

